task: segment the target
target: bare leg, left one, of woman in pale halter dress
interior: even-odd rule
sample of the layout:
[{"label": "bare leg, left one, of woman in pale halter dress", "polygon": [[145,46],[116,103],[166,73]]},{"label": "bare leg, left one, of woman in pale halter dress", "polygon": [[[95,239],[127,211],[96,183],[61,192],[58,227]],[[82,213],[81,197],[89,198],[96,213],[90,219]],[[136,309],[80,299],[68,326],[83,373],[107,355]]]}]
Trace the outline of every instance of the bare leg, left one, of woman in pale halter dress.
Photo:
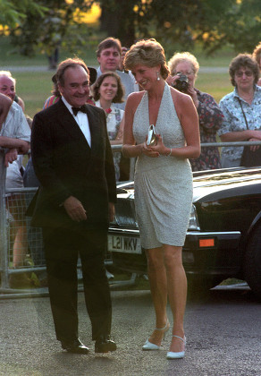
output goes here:
[{"label": "bare leg, left one, of woman in pale halter dress", "polygon": [[[164,267],[164,253],[162,248],[154,248],[146,251],[147,274],[150,291],[156,312],[156,328],[163,329],[166,325],[167,283]],[[160,346],[164,330],[154,330],[149,342]]]}]

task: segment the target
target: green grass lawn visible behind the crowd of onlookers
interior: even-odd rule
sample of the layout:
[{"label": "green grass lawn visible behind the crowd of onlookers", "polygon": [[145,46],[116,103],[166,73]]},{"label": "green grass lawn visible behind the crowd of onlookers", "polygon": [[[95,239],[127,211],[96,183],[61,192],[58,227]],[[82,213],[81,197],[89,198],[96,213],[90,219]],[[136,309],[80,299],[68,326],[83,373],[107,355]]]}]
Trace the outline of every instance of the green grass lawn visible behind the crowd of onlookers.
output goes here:
[{"label": "green grass lawn visible behind the crowd of onlookers", "polygon": [[[97,43],[98,41],[99,40],[97,39]],[[52,90],[51,77],[54,74],[54,71],[47,70],[46,56],[38,54],[37,56],[29,58],[20,56],[18,54],[12,54],[12,49],[13,47],[10,45],[9,38],[0,38],[0,70],[1,67],[8,69],[9,66],[46,66],[46,70],[43,72],[13,71],[13,77],[15,77],[17,80],[17,93],[25,102],[26,113],[33,117],[39,110],[42,109],[46,98],[50,96],[50,92]],[[95,49],[96,47],[87,47],[84,53],[79,54],[79,57],[82,58],[88,65],[96,66],[97,59]],[[213,57],[207,57],[202,53],[202,51],[200,51],[199,48],[196,48],[193,54],[197,56],[201,67],[228,67],[232,57],[234,56],[234,53],[229,49],[224,49]],[[72,55],[62,51],[60,60],[63,60],[69,56]],[[199,72],[196,87],[199,90],[206,91],[207,93],[211,94],[217,102],[219,102],[219,100],[223,98],[225,94],[232,91],[232,85],[228,73]]]}]

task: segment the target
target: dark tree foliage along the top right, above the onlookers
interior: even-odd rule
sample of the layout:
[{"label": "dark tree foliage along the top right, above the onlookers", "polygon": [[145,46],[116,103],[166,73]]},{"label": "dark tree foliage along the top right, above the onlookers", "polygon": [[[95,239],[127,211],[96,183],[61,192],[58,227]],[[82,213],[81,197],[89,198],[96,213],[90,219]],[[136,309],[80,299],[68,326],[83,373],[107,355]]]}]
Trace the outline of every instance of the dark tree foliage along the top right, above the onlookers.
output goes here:
[{"label": "dark tree foliage along the top right, above the onlookers", "polygon": [[101,0],[102,28],[131,46],[136,38],[156,38],[166,51],[191,49],[200,42],[207,53],[224,45],[252,51],[260,41],[260,0]]}]

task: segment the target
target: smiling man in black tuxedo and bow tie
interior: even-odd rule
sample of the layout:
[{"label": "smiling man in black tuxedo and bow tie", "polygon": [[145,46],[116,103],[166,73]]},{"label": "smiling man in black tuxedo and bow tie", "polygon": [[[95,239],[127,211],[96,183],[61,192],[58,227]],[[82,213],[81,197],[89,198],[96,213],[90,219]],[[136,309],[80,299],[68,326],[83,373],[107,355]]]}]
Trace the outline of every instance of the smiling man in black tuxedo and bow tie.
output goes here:
[{"label": "smiling man in black tuxedo and bow tie", "polygon": [[49,295],[56,338],[63,349],[87,354],[78,338],[77,261],[92,325],[95,351],[114,351],[112,304],[104,256],[109,219],[114,218],[114,160],[105,112],[86,105],[88,67],[80,59],[59,64],[62,94],[34,117],[33,166],[40,182],[31,203],[32,225],[43,228]]}]

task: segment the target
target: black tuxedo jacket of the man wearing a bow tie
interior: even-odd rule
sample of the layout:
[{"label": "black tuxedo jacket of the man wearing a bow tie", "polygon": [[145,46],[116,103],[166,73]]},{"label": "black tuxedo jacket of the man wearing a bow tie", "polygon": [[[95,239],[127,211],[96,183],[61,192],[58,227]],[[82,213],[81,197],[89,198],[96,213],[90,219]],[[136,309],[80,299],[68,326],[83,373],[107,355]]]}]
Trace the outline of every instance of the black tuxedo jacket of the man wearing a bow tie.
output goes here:
[{"label": "black tuxedo jacket of the man wearing a bow tie", "polygon": [[[63,100],[34,117],[31,155],[40,186],[28,209],[32,226],[108,226],[108,202],[116,201],[113,153],[104,110],[86,106],[91,147]],[[72,221],[63,208],[70,196],[86,209],[86,221]]]}]

